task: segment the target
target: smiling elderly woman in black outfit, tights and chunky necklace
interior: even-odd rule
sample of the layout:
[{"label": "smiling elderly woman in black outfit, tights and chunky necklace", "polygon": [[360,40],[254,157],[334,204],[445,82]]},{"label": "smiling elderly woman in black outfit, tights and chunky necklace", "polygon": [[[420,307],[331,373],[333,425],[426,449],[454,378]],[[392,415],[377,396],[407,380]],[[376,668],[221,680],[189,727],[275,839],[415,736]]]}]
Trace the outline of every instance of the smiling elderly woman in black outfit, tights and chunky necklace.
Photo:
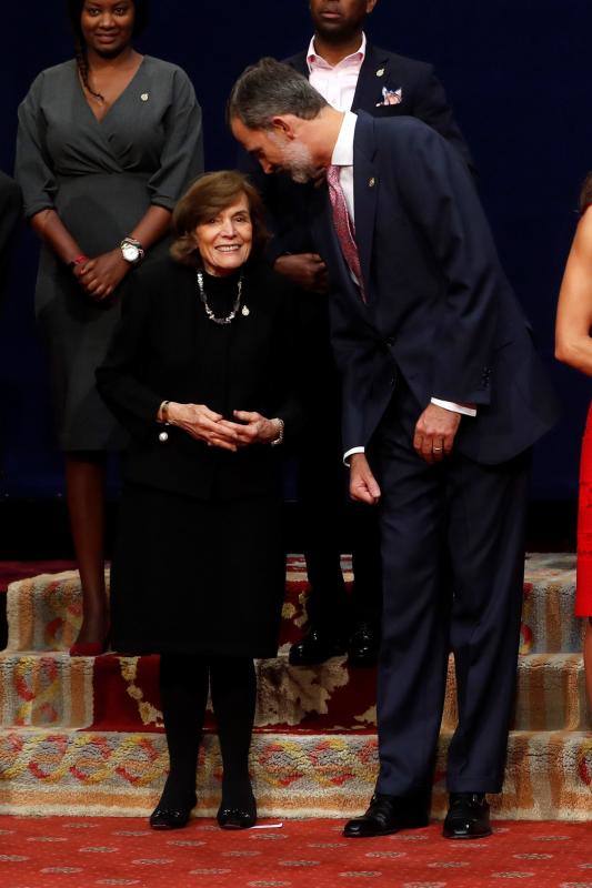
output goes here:
[{"label": "smiling elderly woman in black outfit, tights and chunky necklace", "polygon": [[184,826],[211,689],[218,821],[252,826],[253,657],[275,656],[284,588],[279,454],[301,426],[283,279],[258,261],[261,201],[237,172],[197,181],[172,258],[139,270],[99,390],[131,433],[111,573],[114,647],[161,654],[170,774],[150,824]]}]

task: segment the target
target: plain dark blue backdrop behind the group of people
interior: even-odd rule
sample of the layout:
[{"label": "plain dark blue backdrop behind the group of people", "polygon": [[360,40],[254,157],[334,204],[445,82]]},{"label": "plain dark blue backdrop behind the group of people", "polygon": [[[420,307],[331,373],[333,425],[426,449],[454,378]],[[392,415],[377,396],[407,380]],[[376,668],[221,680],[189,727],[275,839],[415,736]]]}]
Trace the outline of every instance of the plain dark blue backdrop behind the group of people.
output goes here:
[{"label": "plain dark blue backdrop behind the group of people", "polygon": [[[232,167],[224,102],[234,78],[261,56],[308,46],[304,0],[153,0],[140,49],[182,65],[204,111],[208,169]],[[471,145],[505,270],[530,315],[563,403],[563,420],[538,447],[533,496],[575,496],[590,382],[555,364],[553,321],[592,169],[589,0],[380,0],[368,34],[379,46],[437,65]],[[17,107],[34,75],[72,56],[62,3],[2,11],[0,167],[13,165]],[[0,324],[0,494],[62,491],[47,372],[33,323],[37,244],[19,233]]]}]

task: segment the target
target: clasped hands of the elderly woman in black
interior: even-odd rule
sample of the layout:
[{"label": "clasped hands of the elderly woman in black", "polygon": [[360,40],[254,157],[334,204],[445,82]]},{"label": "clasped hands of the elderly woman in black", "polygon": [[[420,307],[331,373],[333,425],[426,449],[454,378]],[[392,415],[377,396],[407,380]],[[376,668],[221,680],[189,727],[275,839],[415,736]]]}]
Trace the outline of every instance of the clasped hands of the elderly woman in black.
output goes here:
[{"label": "clasped hands of the elderly woman in black", "polygon": [[260,413],[234,411],[239,422],[224,420],[205,404],[178,404],[168,407],[170,425],[177,425],[208,446],[237,452],[250,444],[268,444],[275,441],[280,427],[277,421],[268,420]]}]

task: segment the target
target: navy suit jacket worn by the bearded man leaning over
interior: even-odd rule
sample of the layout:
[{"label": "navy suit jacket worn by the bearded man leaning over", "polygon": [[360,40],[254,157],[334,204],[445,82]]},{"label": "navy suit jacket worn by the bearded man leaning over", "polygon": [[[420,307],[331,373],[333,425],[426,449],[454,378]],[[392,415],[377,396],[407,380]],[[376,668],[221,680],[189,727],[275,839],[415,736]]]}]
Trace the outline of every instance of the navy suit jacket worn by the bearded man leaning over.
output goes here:
[{"label": "navy suit jacket worn by the bearded man leaning over", "polygon": [[432,396],[478,405],[461,424],[462,453],[511,458],[552,426],[556,404],[466,164],[414,118],[360,113],[353,171],[368,304],[337,241],[327,188],[313,223],[332,284],[344,451],[369,444],[400,372],[421,408]]}]

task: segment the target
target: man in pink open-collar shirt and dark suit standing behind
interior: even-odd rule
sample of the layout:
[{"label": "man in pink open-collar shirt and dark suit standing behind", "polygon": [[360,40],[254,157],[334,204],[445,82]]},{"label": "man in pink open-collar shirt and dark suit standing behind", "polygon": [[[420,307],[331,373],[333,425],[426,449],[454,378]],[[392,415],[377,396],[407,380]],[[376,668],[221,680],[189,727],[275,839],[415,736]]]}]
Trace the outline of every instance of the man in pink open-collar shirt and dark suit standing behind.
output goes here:
[{"label": "man in pink open-collar shirt and dark suit standing behind", "polygon": [[[377,1],[310,0],[314,36],[309,48],[287,63],[309,78],[341,111],[364,110],[377,118],[420,118],[448,139],[472,169],[469,149],[432,65],[367,41],[364,21]],[[301,287],[301,311],[312,339],[308,343],[305,372],[311,427],[317,433],[301,447],[299,472],[310,583],[309,629],[302,640],[292,645],[290,660],[299,665],[321,663],[347,647],[350,664],[373,665],[380,640],[379,528],[372,509],[364,505],[350,509],[354,587],[349,608],[340,568],[343,486],[339,381],[329,343],[327,269],[315,252],[308,225],[314,189],[294,184],[285,174],[264,176],[255,169],[253,176],[275,235],[269,259],[275,271]]]}]

